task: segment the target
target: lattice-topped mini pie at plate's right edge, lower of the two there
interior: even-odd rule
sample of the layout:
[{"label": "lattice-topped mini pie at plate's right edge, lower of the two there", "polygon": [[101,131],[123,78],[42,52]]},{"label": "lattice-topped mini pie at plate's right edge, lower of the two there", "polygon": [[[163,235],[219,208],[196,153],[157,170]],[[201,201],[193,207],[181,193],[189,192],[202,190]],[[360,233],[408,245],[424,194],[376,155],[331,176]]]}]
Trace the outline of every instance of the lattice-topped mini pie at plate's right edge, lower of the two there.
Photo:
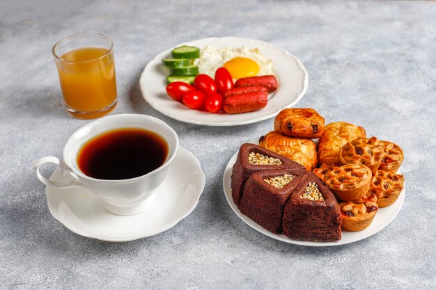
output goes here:
[{"label": "lattice-topped mini pie at plate's right edge, lower of the two there", "polygon": [[396,202],[403,188],[403,175],[396,174],[391,170],[376,170],[371,179],[371,186],[367,195],[377,195],[378,207],[389,207],[389,205]]}]

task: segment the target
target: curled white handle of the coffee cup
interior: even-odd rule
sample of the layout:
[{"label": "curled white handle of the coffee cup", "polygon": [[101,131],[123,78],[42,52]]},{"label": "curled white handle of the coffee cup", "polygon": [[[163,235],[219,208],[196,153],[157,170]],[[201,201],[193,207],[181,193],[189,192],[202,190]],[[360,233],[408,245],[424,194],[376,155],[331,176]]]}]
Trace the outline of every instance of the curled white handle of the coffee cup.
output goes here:
[{"label": "curled white handle of the coffee cup", "polygon": [[[64,180],[62,182],[54,182],[52,180],[49,180],[49,179],[43,177],[41,172],[40,172],[40,167],[43,166],[45,163],[56,164],[57,166],[59,166],[59,169],[61,169],[61,174],[63,176],[70,173],[70,176],[72,177],[72,179]],[[75,174],[74,174],[74,172],[72,172],[71,168],[68,167],[68,165],[65,162],[63,162],[61,159],[59,159],[57,157],[45,156],[45,157],[42,157],[40,159],[37,159],[36,161],[33,162],[33,169],[36,172],[36,177],[38,177],[38,179],[40,179],[40,182],[42,182],[43,184],[45,184],[47,186],[52,186],[52,187],[56,187],[56,188],[70,188],[70,187],[84,187],[84,188],[86,188],[86,186],[84,186],[84,184],[81,183],[81,181],[75,176]]]}]

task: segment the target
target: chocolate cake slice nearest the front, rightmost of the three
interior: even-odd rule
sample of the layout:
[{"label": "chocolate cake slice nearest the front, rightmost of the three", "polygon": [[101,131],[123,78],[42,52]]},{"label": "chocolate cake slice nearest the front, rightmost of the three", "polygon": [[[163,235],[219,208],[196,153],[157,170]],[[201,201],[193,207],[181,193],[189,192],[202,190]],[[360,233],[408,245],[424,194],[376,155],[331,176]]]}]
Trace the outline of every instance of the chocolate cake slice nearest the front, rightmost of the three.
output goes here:
[{"label": "chocolate cake slice nearest the front, rightmost of the three", "polygon": [[341,223],[341,211],[332,191],[309,172],[286,202],[283,234],[301,241],[338,241]]}]

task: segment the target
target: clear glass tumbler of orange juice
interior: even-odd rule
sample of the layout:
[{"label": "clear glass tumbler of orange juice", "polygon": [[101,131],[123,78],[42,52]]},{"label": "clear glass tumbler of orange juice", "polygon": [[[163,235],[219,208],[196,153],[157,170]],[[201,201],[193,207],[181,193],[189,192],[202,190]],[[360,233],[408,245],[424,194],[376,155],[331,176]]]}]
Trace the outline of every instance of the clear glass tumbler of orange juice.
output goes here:
[{"label": "clear glass tumbler of orange juice", "polygon": [[99,33],[78,33],[53,47],[65,108],[79,119],[100,118],[117,104],[114,43]]}]

